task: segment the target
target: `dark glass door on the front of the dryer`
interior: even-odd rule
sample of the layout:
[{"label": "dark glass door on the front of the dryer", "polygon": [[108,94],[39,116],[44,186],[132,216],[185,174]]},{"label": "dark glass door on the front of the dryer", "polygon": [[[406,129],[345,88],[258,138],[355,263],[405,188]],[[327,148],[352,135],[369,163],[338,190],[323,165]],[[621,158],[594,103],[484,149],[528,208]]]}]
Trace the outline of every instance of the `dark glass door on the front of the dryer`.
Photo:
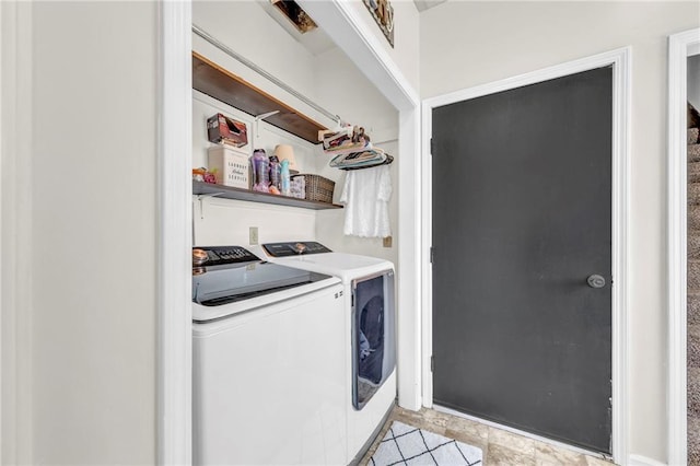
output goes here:
[{"label": "dark glass door on the front of the dryer", "polygon": [[352,281],[352,406],[360,410],[396,368],[394,271]]}]

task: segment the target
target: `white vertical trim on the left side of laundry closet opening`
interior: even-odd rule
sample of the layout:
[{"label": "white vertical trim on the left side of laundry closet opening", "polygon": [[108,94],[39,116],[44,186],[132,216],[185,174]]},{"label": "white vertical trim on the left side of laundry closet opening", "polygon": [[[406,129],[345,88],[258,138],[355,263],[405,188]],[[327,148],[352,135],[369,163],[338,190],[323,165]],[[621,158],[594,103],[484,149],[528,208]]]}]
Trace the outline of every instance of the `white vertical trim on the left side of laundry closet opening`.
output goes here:
[{"label": "white vertical trim on the left side of laundry closet opening", "polygon": [[191,463],[191,3],[159,2],[159,465]]}]

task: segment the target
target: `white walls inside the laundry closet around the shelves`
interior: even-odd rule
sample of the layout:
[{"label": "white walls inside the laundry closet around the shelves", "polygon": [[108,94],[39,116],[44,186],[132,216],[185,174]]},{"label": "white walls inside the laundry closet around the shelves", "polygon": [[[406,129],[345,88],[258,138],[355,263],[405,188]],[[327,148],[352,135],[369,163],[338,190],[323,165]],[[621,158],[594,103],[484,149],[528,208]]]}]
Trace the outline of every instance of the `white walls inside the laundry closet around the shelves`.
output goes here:
[{"label": "white walls inside the laundry closet around the shelves", "polygon": [[[315,30],[302,35],[291,31],[293,26],[283,27],[282,21],[288,19],[267,1],[192,3],[195,26],[314,104],[338,115],[342,121],[364,127],[375,145],[397,155],[397,110],[323,31]],[[192,34],[192,49],[262,93],[283,102],[303,117],[329,129],[336,127],[337,121],[197,34]],[[328,166],[331,156],[323,152],[319,143],[299,138],[265,118],[256,121],[257,115],[243,113],[196,90],[192,91],[192,168],[208,166],[208,149],[213,144],[207,138],[206,121],[218,113],[246,124],[248,143],[241,149],[248,155],[253,155],[255,149],[264,149],[268,155],[272,155],[278,144],[291,145],[299,172],[334,180],[332,202],[339,203],[346,172]],[[250,245],[250,236],[255,236],[257,231],[259,244],[316,240],[332,251],[380,257],[396,264],[399,163],[400,156],[396,156],[389,165],[393,188],[388,202],[389,223],[393,228],[392,241],[387,243],[390,244],[389,247],[384,247],[382,238],[343,235],[345,209],[316,210],[207,195],[192,197],[194,243],[237,244],[245,247]]]}]

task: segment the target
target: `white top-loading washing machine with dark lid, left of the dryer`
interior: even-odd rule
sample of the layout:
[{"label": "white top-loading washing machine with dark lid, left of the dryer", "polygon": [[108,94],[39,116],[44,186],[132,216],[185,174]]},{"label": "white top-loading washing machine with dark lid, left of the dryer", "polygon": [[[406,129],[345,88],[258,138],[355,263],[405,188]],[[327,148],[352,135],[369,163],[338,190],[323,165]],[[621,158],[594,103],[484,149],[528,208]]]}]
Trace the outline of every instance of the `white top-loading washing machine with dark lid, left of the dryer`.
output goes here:
[{"label": "white top-loading washing machine with dark lid, left of the dryer", "polygon": [[238,246],[192,249],[192,461],[347,462],[343,287]]}]

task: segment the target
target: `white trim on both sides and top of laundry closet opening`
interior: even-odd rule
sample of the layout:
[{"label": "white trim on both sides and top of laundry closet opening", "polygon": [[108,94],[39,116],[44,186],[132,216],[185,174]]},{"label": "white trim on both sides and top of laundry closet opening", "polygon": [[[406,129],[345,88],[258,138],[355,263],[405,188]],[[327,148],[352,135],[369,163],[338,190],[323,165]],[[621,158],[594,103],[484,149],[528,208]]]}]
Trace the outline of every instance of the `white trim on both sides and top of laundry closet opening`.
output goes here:
[{"label": "white trim on both sides and top of laundry closet opening", "polygon": [[[365,73],[372,74],[376,89],[398,110],[398,143],[401,145],[400,183],[405,186],[420,186],[413,161],[418,156],[419,113],[416,91],[394,67],[387,67],[383,44],[380,38],[366,34],[362,19],[353,5],[340,2],[299,1],[314,18],[319,28],[331,32],[338,47]],[[161,193],[161,242],[159,256],[159,463],[188,464],[191,458],[191,296],[187,294],[191,280],[190,266],[183,251],[191,247],[191,179],[185,174],[191,168],[191,141],[180,138],[189,135],[191,124],[191,3],[165,3],[162,5],[162,62],[160,66],[163,95],[160,114],[163,136],[159,148],[160,166],[163,178]],[[313,34],[310,33],[310,34]],[[306,34],[308,35],[308,34]],[[393,65],[393,63],[389,63]],[[167,117],[167,118],[165,118]],[[177,137],[173,137],[177,136]],[[186,165],[186,166],[185,166]],[[398,323],[397,339],[402,346],[399,361],[399,400],[402,406],[420,407],[419,358],[420,343],[416,329],[419,328],[418,305],[420,294],[419,259],[415,254],[420,210],[419,195],[411,191],[398,199],[401,217],[398,235],[402,238],[397,247],[398,270],[402,279],[397,294],[401,300],[404,318]],[[168,237],[172,232],[177,232]],[[167,234],[166,234],[167,233]]]}]

